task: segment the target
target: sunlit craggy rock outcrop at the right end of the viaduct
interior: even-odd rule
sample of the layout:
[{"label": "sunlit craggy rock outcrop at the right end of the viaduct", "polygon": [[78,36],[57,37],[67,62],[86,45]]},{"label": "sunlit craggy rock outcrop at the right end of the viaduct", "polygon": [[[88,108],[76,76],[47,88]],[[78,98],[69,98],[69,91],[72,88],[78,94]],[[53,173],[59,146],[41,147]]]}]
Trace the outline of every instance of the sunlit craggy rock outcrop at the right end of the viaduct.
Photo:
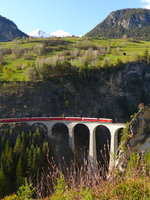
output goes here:
[{"label": "sunlit craggy rock outcrop at the right end of the viaduct", "polygon": [[132,153],[139,155],[150,149],[150,107],[143,107],[129,124],[128,135],[120,144],[116,168],[126,171]]}]

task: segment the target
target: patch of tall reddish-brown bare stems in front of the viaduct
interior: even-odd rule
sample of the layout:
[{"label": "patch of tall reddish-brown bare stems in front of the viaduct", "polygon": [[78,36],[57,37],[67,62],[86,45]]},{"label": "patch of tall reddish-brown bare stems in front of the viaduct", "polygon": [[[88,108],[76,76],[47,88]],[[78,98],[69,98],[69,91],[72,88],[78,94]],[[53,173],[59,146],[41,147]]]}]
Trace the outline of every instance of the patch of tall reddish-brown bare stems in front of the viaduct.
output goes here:
[{"label": "patch of tall reddish-brown bare stems in front of the viaduct", "polygon": [[93,172],[87,160],[84,160],[81,166],[72,161],[70,167],[66,166],[64,162],[64,167],[61,167],[61,169],[55,162],[51,161],[49,162],[48,171],[46,173],[43,172],[41,177],[37,181],[36,187],[38,198],[43,198],[45,195],[52,195],[57,190],[56,186],[58,184],[65,184],[65,188],[61,188],[64,192],[66,190],[79,191],[81,188],[93,189],[105,179],[106,172],[102,166]]}]

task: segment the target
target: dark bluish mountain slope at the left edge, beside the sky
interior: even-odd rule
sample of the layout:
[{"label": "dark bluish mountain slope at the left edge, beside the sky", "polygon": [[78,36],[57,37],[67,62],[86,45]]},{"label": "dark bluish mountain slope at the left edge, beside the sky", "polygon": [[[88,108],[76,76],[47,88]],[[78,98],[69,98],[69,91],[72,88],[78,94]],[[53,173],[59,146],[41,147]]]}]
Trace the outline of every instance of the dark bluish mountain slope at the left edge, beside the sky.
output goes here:
[{"label": "dark bluish mountain slope at the left edge, beside the sky", "polygon": [[20,31],[12,21],[0,16],[0,42],[11,41],[17,37],[28,36]]}]

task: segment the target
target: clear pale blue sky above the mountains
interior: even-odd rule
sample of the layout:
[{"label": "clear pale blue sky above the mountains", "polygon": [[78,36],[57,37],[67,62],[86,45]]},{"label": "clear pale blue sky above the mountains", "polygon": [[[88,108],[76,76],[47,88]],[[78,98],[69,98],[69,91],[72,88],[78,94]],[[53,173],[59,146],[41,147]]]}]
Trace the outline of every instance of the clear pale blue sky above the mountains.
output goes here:
[{"label": "clear pale blue sky above the mountains", "polygon": [[83,35],[115,10],[150,8],[150,0],[0,0],[0,15],[24,32],[58,29]]}]

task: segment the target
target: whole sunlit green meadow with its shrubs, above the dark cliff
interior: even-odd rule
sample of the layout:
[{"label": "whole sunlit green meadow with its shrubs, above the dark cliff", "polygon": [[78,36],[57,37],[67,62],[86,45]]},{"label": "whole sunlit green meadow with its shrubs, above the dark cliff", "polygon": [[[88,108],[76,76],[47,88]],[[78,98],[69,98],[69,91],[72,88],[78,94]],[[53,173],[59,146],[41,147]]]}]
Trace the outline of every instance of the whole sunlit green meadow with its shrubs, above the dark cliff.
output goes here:
[{"label": "whole sunlit green meadow with its shrubs, above the dark cliff", "polygon": [[76,68],[113,67],[149,62],[150,42],[133,39],[23,38],[0,43],[0,81],[38,81],[43,65],[70,63]]}]

